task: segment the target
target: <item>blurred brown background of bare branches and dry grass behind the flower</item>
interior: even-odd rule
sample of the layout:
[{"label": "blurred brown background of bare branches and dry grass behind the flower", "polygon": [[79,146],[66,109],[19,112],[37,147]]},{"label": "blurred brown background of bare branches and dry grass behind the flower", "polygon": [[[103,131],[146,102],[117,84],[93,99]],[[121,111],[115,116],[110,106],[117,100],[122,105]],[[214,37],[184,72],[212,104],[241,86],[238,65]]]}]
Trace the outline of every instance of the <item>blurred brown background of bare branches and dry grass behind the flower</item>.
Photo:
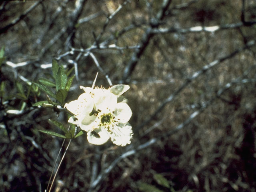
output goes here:
[{"label": "blurred brown background of bare branches and dry grass behind the flower", "polygon": [[56,59],[76,75],[66,102],[97,72],[96,86],[130,85],[134,137],[72,140],[52,191],[255,192],[255,24],[254,0],[1,2],[1,191],[47,187],[63,139],[38,129],[67,116],[32,107],[46,94],[26,82]]}]

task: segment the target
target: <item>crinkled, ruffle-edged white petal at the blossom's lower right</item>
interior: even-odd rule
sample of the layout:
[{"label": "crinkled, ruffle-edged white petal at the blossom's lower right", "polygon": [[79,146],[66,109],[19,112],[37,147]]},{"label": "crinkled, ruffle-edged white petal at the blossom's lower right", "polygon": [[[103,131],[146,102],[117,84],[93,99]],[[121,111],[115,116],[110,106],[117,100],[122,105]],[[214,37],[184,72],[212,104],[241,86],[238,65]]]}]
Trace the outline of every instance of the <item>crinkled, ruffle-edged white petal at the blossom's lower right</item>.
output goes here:
[{"label": "crinkled, ruffle-edged white petal at the blossom's lower right", "polygon": [[112,142],[119,146],[125,146],[131,143],[132,139],[132,126],[129,123],[118,124],[114,129],[109,132]]}]

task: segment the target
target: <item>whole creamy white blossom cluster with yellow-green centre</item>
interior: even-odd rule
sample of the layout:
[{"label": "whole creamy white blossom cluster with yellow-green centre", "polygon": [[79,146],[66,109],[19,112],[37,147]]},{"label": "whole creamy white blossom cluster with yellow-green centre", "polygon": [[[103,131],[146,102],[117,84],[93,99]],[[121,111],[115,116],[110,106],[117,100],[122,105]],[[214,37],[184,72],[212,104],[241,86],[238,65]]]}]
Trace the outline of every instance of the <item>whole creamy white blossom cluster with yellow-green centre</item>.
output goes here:
[{"label": "whole creamy white blossom cluster with yellow-green centre", "polygon": [[111,138],[116,145],[130,144],[132,126],[128,123],[132,110],[121,95],[130,86],[115,85],[109,89],[80,86],[85,93],[65,104],[74,114],[68,122],[87,133],[88,142],[101,145]]}]

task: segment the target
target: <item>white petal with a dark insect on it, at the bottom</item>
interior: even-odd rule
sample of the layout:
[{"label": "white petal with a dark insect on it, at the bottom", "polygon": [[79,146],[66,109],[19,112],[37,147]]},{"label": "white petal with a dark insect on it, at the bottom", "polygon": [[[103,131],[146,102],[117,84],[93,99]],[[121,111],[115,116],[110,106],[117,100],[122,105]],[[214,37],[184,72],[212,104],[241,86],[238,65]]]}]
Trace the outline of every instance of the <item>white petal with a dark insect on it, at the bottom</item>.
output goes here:
[{"label": "white petal with a dark insect on it, at the bottom", "polygon": [[87,133],[87,140],[94,145],[102,145],[109,139],[109,135],[104,128],[96,128]]}]

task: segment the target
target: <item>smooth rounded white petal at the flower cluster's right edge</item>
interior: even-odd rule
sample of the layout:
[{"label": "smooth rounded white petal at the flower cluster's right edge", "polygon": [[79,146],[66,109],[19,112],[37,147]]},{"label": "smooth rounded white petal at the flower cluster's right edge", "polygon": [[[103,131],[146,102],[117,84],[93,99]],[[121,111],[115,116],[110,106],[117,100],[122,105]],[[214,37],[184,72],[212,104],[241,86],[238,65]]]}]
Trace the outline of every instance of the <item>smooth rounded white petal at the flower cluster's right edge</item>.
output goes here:
[{"label": "smooth rounded white petal at the flower cluster's right edge", "polygon": [[115,117],[121,122],[126,123],[132,116],[132,110],[126,103],[118,103],[114,111]]}]

